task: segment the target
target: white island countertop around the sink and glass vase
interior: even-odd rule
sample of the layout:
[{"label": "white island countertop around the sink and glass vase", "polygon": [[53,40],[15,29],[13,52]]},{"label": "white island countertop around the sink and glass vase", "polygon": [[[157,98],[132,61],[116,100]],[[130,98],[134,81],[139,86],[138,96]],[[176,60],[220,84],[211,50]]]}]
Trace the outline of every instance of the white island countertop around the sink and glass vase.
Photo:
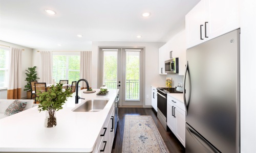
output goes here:
[{"label": "white island countertop around the sink and glass vase", "polygon": [[82,93],[80,97],[87,99],[108,98],[109,102],[99,112],[73,112],[75,93],[69,97],[62,110],[56,112],[57,125],[44,126],[46,112],[37,107],[0,119],[0,151],[1,152],[91,152],[96,144],[101,127],[115,101],[119,89],[109,89],[102,96],[95,93]]}]

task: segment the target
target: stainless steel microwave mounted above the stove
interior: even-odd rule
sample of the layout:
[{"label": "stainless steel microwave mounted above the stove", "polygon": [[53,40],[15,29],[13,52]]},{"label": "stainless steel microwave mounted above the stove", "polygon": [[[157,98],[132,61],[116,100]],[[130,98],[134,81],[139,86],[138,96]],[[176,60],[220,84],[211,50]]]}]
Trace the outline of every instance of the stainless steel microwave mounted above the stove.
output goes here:
[{"label": "stainless steel microwave mounted above the stove", "polygon": [[164,61],[165,73],[179,73],[179,58]]}]

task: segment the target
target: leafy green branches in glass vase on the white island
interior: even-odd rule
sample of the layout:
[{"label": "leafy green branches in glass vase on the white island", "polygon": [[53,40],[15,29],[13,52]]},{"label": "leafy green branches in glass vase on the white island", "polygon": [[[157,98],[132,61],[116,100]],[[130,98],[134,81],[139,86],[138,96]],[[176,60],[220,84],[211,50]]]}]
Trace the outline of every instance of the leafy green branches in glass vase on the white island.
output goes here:
[{"label": "leafy green branches in glass vase on the white island", "polygon": [[46,92],[38,91],[36,100],[39,101],[38,110],[47,111],[45,127],[54,127],[56,122],[56,111],[62,109],[68,97],[72,97],[72,88],[62,90],[62,84],[52,85]]}]

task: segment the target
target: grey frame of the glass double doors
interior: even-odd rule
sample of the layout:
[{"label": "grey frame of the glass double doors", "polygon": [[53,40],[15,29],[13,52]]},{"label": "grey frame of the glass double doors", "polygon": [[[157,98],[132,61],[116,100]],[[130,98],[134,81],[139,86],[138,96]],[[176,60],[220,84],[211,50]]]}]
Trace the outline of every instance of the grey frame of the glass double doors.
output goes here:
[{"label": "grey frame of the glass double doors", "polygon": [[[120,52],[122,51],[122,49],[142,49],[143,50],[143,54],[142,54],[142,57],[141,57],[141,59],[143,59],[143,63],[142,63],[142,65],[141,65],[141,68],[142,68],[142,73],[140,74],[141,75],[141,84],[143,85],[143,86],[141,86],[141,90],[142,90],[142,94],[141,94],[141,96],[140,96],[140,98],[141,98],[141,101],[142,101],[142,104],[140,105],[140,106],[142,106],[142,107],[145,107],[146,105],[145,105],[145,101],[144,101],[144,99],[145,99],[145,47],[140,47],[140,46],[98,46],[98,68],[97,68],[97,71],[98,71],[98,76],[97,76],[97,88],[100,88],[100,83],[101,83],[101,81],[100,81],[100,79],[101,79],[101,71],[100,71],[100,65],[102,64],[101,63],[101,60],[100,60],[100,56],[101,56],[101,54],[100,54],[100,51],[102,51],[102,48],[105,48],[105,49],[108,49],[108,48],[110,48],[110,49],[120,49]],[[119,52],[119,50],[118,50],[118,52]],[[120,55],[120,56],[118,56],[118,58],[123,58],[123,55]],[[122,65],[122,62],[121,62],[121,68],[123,67],[123,65]],[[121,70],[122,71],[122,70]],[[119,74],[118,74],[119,75]],[[120,76],[120,79],[121,80],[123,80],[123,78],[122,78],[123,76],[121,75]],[[124,87],[125,86],[125,84],[124,84],[124,82],[122,82],[121,83],[121,86],[122,87]],[[122,99],[122,97],[124,96],[123,95],[124,93],[122,93],[122,91],[121,90],[119,90],[119,96],[120,96],[120,99]],[[123,106],[122,105],[122,100],[120,101],[120,103],[119,103],[119,106]]]}]

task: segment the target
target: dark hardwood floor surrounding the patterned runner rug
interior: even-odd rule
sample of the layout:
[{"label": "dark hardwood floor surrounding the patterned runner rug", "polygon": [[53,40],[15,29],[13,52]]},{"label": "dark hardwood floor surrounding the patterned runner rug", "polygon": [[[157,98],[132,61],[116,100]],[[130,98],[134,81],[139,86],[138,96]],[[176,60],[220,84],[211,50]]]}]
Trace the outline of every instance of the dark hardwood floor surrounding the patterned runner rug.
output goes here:
[{"label": "dark hardwood floor surrounding the patterned runner rug", "polygon": [[174,152],[174,153],[185,152],[185,148],[180,143],[180,141],[176,138],[176,136],[169,129],[167,132],[163,129],[163,126],[158,120],[157,114],[153,110],[153,108],[118,108],[118,115],[119,115],[119,122],[117,125],[116,136],[115,136],[113,147],[112,147],[113,153],[122,152],[125,115],[151,115],[169,152]]}]

